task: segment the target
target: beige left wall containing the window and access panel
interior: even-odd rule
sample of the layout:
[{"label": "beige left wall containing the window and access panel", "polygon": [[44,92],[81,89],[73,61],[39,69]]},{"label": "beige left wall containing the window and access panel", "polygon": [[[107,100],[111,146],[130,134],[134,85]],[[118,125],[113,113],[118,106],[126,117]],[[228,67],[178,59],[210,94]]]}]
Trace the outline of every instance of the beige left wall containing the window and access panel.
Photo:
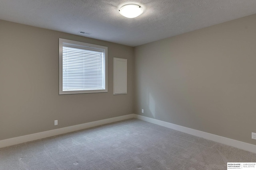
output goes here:
[{"label": "beige left wall containing the window and access panel", "polygon": [[[58,95],[59,38],[108,47],[108,93]],[[127,95],[113,57],[128,59]],[[133,63],[132,47],[0,20],[0,140],[133,113]]]}]

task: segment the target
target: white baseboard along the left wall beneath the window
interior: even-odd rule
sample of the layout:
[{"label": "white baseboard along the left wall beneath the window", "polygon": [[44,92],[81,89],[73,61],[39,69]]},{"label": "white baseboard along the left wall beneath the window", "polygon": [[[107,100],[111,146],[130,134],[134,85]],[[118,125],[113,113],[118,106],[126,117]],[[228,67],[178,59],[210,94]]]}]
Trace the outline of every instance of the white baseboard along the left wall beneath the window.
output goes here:
[{"label": "white baseboard along the left wall beneath the window", "polygon": [[46,137],[51,137],[51,136],[55,136],[55,135],[60,135],[60,134],[68,133],[68,132],[72,132],[72,131],[78,131],[81,129],[86,129],[86,128],[90,128],[90,127],[94,127],[94,126],[98,126],[98,125],[104,125],[107,123],[130,119],[130,118],[134,118],[134,114],[113,117],[113,118],[109,118],[109,119],[103,119],[103,120],[99,120],[99,121],[83,123],[80,125],[63,127],[60,129],[54,129],[54,130],[44,131],[44,132],[40,132],[40,133],[34,133],[31,135],[25,135],[25,136],[5,139],[5,140],[0,141],[0,148],[8,147],[11,145],[16,145],[16,144],[24,143],[24,142],[28,142],[28,141],[34,141],[34,140],[42,139],[42,138],[46,138]]}]

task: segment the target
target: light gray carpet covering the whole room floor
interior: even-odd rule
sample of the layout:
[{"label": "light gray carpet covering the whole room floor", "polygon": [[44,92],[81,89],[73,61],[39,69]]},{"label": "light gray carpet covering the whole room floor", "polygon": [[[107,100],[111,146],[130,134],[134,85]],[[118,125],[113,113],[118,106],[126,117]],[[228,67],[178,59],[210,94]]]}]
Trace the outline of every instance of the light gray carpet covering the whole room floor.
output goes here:
[{"label": "light gray carpet covering the whole room floor", "polygon": [[226,170],[256,154],[128,119],[0,149],[1,170]]}]

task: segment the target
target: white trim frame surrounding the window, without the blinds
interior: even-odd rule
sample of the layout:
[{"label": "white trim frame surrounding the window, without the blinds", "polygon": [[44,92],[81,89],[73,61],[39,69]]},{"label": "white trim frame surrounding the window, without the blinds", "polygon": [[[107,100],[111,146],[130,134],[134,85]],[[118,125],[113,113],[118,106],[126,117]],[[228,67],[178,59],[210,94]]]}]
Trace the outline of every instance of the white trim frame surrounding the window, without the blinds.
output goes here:
[{"label": "white trim frame surrounding the window, without the blinds", "polygon": [[[77,91],[63,91],[62,88],[62,81],[63,81],[63,75],[62,75],[62,48],[63,43],[69,44],[69,45],[76,45],[80,47],[89,47],[93,49],[101,49],[105,53],[105,89],[103,90],[77,90]],[[108,47],[100,46],[100,45],[94,45],[89,43],[82,43],[78,41],[72,41],[68,39],[61,39],[59,38],[59,95],[62,94],[86,94],[86,93],[104,93],[108,92]]]}]

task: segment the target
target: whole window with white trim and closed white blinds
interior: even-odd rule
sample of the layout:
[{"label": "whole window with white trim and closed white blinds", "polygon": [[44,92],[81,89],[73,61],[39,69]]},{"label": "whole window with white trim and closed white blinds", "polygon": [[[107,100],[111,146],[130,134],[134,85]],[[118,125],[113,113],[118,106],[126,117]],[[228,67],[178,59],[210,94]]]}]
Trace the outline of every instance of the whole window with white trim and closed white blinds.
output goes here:
[{"label": "whole window with white trim and closed white blinds", "polygon": [[108,47],[59,39],[59,94],[108,92]]}]

